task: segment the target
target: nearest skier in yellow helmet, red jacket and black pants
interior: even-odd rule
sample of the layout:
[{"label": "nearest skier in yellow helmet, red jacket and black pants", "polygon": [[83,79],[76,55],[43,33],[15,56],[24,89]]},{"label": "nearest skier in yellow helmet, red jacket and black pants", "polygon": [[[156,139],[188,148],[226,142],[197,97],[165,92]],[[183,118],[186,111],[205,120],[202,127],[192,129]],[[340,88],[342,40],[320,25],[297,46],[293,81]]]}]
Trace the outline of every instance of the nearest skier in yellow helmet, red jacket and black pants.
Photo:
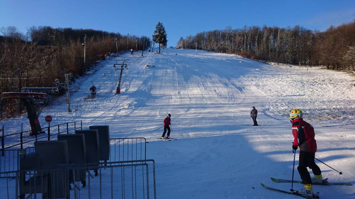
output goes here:
[{"label": "nearest skier in yellow helmet, red jacket and black pants", "polygon": [[[322,183],[323,180],[321,169],[314,162],[317,151],[314,129],[311,124],[303,120],[302,116],[303,112],[300,109],[293,109],[290,113],[292,134],[294,136],[292,149],[296,151],[300,147],[297,170],[305,188],[300,189],[298,192],[313,197],[312,182]],[[307,167],[312,169],[314,177],[311,178]]]}]

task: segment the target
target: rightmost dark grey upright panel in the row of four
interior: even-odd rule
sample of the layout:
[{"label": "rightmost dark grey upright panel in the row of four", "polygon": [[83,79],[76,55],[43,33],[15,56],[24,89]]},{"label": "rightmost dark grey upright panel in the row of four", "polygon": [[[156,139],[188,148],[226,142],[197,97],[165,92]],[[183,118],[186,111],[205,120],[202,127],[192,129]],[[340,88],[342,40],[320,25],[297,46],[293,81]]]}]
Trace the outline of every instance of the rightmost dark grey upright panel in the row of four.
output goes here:
[{"label": "rightmost dark grey upright panel in the row of four", "polygon": [[89,126],[89,129],[97,129],[99,133],[100,160],[110,159],[110,128],[105,126]]}]

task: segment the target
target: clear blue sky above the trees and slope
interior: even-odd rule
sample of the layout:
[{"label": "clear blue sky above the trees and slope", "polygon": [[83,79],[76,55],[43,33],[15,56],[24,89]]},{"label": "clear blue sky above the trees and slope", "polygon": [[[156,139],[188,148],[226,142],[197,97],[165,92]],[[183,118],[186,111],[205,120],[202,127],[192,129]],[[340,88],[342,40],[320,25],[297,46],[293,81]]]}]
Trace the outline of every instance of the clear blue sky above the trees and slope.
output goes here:
[{"label": "clear blue sky above the trees and slope", "polygon": [[326,30],[355,19],[355,0],[0,0],[0,28],[91,28],[151,36],[158,21],[168,46],[198,32],[245,25]]}]

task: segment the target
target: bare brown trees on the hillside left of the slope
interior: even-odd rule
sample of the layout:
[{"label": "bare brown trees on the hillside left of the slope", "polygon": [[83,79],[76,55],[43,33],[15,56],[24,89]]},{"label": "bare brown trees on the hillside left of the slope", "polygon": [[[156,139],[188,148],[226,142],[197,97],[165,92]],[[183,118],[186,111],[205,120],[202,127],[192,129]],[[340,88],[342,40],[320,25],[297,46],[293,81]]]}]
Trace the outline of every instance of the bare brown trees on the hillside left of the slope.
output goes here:
[{"label": "bare brown trees on the hillside left of the slope", "polygon": [[[144,50],[151,45],[146,36],[92,29],[40,26],[29,28],[26,34],[15,27],[0,31],[3,35],[0,36],[0,93],[19,92],[22,87],[52,87],[56,78],[63,82],[64,74],[81,76],[113,52]],[[1,101],[1,105],[1,117],[23,111],[16,100]]]}]

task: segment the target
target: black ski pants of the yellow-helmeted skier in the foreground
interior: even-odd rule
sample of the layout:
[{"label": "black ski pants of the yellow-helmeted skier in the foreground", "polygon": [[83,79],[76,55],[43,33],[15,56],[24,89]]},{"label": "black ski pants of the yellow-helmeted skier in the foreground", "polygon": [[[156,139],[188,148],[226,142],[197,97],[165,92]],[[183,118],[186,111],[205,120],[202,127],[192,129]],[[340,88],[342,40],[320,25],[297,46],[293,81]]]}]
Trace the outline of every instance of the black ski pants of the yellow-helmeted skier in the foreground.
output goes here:
[{"label": "black ski pants of the yellow-helmeted skier in the foreground", "polygon": [[321,169],[314,162],[315,153],[308,153],[300,151],[300,160],[297,170],[300,173],[302,182],[304,184],[312,184],[310,173],[307,167],[312,169],[314,175],[321,175]]}]

